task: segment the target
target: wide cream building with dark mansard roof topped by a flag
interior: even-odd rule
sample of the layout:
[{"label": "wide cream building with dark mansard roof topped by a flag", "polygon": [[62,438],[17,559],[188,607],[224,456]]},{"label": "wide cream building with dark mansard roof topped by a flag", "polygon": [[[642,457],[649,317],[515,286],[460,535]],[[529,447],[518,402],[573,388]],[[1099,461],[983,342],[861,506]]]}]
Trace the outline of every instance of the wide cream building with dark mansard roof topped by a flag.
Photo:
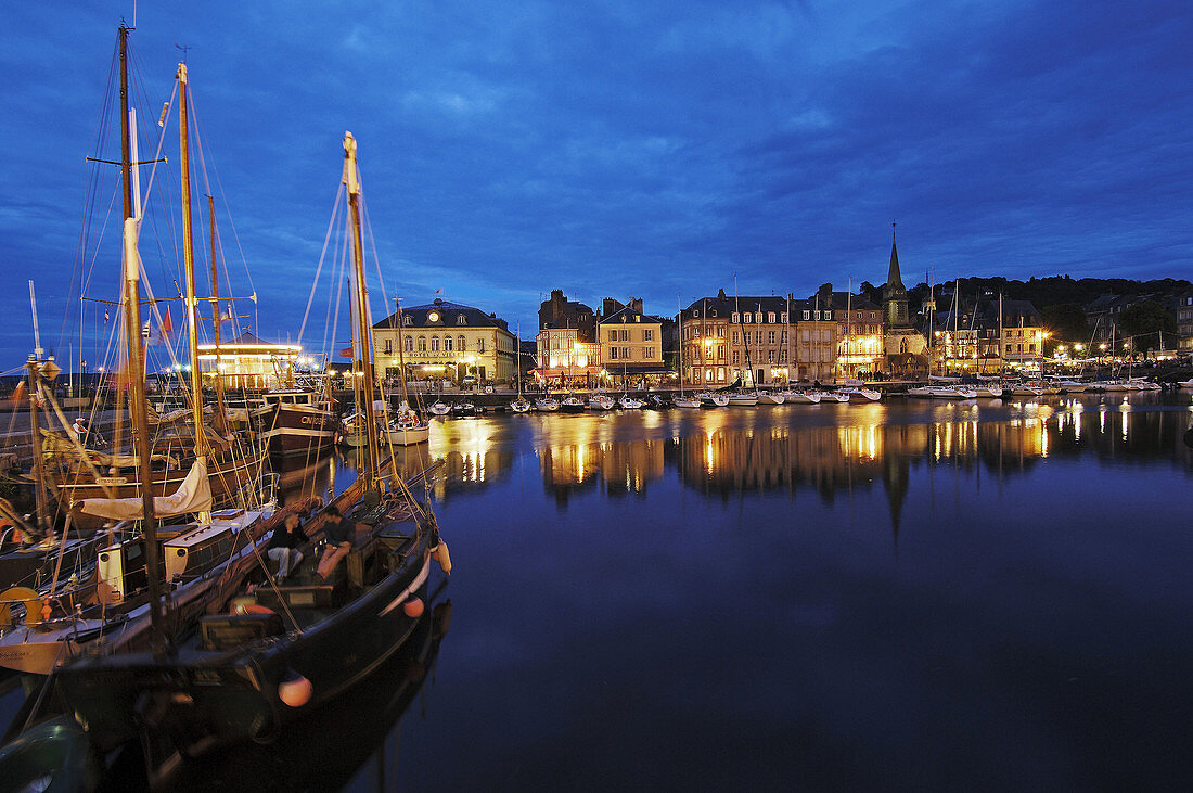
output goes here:
[{"label": "wide cream building with dark mansard roof topped by a flag", "polygon": [[[401,374],[398,335],[397,312],[373,326],[378,377]],[[443,298],[402,308],[401,343],[407,379],[509,383],[518,372],[518,340],[505,320]]]}]

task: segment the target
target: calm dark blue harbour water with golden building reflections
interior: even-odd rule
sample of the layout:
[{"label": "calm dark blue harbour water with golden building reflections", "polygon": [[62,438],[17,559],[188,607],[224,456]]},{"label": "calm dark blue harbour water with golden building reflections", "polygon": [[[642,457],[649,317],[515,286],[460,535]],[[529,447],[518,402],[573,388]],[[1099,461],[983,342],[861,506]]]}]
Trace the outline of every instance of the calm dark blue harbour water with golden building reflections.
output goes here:
[{"label": "calm dark blue harbour water with golden building reflections", "polygon": [[446,461],[450,630],[303,735],[303,779],[1187,782],[1191,421],[1185,391],[443,422],[403,464]]}]

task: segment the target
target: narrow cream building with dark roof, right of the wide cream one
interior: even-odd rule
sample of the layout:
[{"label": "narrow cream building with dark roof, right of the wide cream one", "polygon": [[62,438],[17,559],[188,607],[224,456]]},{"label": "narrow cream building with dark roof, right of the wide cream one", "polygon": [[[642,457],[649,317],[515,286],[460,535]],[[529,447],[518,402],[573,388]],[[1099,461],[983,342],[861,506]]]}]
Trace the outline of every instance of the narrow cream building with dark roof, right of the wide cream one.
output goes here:
[{"label": "narrow cream building with dark roof, right of the wide cream one", "polygon": [[596,316],[596,345],[602,373],[623,388],[659,385],[663,368],[662,320],[642,312],[642,299],[623,304],[605,298]]}]

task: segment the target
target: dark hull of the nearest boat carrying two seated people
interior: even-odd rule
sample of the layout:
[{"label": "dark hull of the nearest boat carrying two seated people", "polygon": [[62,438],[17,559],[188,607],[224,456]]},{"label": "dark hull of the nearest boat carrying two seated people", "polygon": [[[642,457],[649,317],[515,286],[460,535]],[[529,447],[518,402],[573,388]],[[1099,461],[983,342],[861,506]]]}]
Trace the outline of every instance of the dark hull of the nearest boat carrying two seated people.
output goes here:
[{"label": "dark hull of the nearest boat carrying two seated people", "polygon": [[[61,690],[103,750],[142,730],[188,752],[225,741],[268,741],[367,676],[408,639],[418,619],[402,605],[412,596],[426,602],[427,541],[414,538],[401,566],[304,632],[222,653],[180,651],[163,661],[149,653],[85,658],[60,670]],[[311,686],[309,701],[298,707],[279,694],[295,674]]]}]

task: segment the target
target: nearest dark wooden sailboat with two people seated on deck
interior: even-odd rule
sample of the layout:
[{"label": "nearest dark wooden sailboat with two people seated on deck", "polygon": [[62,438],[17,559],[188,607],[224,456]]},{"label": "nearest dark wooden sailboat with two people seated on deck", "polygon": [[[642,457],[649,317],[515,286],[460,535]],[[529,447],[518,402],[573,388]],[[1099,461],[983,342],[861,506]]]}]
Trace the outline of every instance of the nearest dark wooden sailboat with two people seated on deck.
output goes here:
[{"label": "nearest dark wooden sailboat with two people seated on deck", "polygon": [[[364,323],[360,180],[351,132],[344,149],[353,299]],[[369,414],[375,380],[367,345],[363,358]],[[161,767],[175,752],[225,739],[267,741],[364,680],[410,639],[427,602],[432,557],[445,572],[451,563],[433,513],[410,492],[413,481],[385,477],[372,432],[369,441],[364,470],[333,501],[338,513],[323,510],[304,527],[316,540],[338,514],[347,526],[346,544],[319,570],[307,545],[310,553],[289,578],[279,582],[260,565],[255,582],[230,593],[227,611],[209,609],[171,652],[87,657],[58,673],[60,692],[98,751],[140,739],[149,764]],[[341,556],[342,564],[329,564]]]}]

